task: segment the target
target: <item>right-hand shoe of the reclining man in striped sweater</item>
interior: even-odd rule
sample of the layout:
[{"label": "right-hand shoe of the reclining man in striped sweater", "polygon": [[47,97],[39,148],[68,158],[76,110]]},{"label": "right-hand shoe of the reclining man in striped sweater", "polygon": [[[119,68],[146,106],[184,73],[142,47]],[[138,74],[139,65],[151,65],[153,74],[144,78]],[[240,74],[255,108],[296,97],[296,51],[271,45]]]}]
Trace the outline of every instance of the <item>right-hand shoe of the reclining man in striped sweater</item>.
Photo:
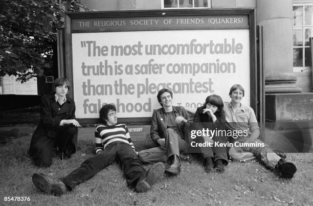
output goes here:
[{"label": "right-hand shoe of the reclining man in striped sweater", "polygon": [[146,192],[155,183],[161,180],[163,177],[165,166],[163,163],[155,163],[152,167],[145,172],[144,178],[139,180],[136,185],[136,192]]}]

